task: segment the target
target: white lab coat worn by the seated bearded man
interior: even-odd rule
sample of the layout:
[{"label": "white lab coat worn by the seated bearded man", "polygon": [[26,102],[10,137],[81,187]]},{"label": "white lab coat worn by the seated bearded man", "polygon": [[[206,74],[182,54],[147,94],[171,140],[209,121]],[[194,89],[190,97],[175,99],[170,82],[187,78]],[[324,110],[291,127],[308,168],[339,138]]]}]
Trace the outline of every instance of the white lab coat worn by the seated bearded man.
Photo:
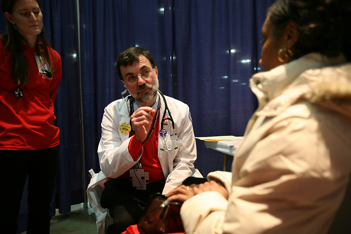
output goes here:
[{"label": "white lab coat worn by the seated bearded man", "polygon": [[[165,107],[163,99],[160,96],[158,99],[161,102],[159,113],[161,118]],[[171,97],[165,96],[165,99],[174,121],[174,140],[181,141],[181,143],[178,143],[178,149],[162,151],[160,148],[165,148],[164,140],[158,135],[158,159],[166,181],[162,194],[167,194],[189,176],[202,177],[201,173],[194,167],[197,150],[189,106]],[[102,136],[98,146],[101,171],[95,175],[91,173],[92,179],[87,189],[89,202],[96,214],[98,233],[105,231],[107,214],[99,202],[103,189],[102,182],[106,181],[106,177],[117,178],[129,170],[139,160],[143,152],[141,150],[140,155],[134,161],[128,151],[129,133],[122,134],[119,131],[119,126],[122,123],[130,122],[127,108],[129,108],[129,102],[126,103],[124,99],[110,103],[105,108],[101,123]],[[159,129],[161,129],[160,124],[161,121],[159,121]],[[167,131],[165,141],[171,142],[172,137],[168,134],[173,132],[171,122],[168,121],[168,124],[164,125],[163,128]]]}]

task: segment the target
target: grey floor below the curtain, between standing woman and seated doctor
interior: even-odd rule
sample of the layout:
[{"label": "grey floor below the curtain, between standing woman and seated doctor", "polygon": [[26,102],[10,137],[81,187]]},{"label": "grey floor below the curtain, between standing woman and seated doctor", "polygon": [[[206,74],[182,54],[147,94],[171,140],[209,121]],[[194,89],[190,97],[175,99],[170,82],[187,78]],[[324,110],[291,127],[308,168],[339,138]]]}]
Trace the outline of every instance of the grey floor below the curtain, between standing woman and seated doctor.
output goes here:
[{"label": "grey floor below the curtain, between standing woman and seated doctor", "polygon": [[[51,218],[50,234],[96,234],[96,216],[90,207],[83,208],[83,203],[72,205],[71,212],[56,215]],[[22,232],[25,234],[27,231]]]}]

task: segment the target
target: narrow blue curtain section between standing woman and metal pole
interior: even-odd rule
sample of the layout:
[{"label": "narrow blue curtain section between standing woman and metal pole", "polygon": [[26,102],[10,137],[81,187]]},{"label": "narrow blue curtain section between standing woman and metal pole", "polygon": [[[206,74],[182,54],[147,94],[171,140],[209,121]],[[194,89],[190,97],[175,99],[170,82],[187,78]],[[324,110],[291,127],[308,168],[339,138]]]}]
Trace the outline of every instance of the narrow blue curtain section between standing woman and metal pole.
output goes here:
[{"label": "narrow blue curtain section between standing woman and metal pole", "polygon": [[60,128],[55,203],[60,213],[70,212],[71,204],[82,202],[83,194],[75,9],[75,1],[41,3],[47,39],[60,54],[63,68],[55,102],[56,124]]}]

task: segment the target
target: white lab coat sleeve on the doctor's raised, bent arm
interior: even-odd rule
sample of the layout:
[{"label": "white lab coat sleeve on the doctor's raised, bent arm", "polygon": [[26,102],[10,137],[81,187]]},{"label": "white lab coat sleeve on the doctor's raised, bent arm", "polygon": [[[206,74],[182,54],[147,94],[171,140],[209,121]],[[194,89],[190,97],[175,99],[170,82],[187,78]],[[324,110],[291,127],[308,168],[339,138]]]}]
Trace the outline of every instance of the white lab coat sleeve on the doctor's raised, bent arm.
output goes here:
[{"label": "white lab coat sleeve on the doctor's raised, bent arm", "polygon": [[140,158],[143,150],[134,161],[128,151],[131,138],[122,140],[119,131],[121,116],[116,102],[105,108],[101,122],[101,139],[98,146],[100,166],[103,173],[110,178],[117,178],[132,167]]}]

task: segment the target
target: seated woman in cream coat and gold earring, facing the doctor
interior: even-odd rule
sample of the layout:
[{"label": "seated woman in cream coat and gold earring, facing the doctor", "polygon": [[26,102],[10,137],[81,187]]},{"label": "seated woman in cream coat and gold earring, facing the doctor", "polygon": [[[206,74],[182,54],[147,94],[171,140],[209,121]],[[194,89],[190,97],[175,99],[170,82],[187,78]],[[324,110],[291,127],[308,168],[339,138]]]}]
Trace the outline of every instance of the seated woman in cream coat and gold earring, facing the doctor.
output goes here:
[{"label": "seated woman in cream coat and gold earring, facing the doctor", "polygon": [[281,0],[270,8],[265,72],[250,80],[259,107],[232,173],[168,194],[185,201],[188,234],[328,232],[351,197],[350,14],[349,2],[335,0]]}]

